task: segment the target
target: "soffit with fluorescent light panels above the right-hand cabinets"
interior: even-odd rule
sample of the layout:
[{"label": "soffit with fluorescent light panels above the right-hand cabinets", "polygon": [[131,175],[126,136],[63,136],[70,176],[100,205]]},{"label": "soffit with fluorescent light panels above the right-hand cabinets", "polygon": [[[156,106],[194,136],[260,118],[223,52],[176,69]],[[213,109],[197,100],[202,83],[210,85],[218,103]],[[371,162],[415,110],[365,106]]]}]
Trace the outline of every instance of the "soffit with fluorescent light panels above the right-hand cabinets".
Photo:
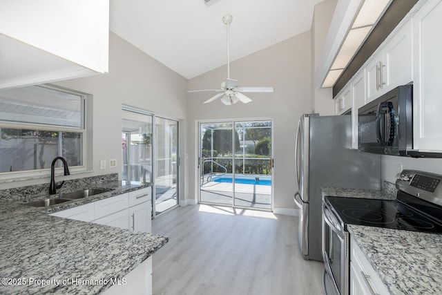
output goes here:
[{"label": "soffit with fluorescent light panels above the right-hand cabinets", "polygon": [[[338,1],[338,6],[336,6],[327,34],[325,49],[320,56],[319,66],[316,68],[315,83],[318,88],[334,87],[334,94],[338,93],[418,1],[384,1],[385,7],[383,10],[378,9],[378,12],[381,12],[381,14],[378,15],[376,21],[372,21],[372,24],[369,26],[359,26],[358,19],[360,19],[361,14],[365,10],[365,4],[369,2],[376,3],[375,0]],[[374,6],[374,4],[369,6]],[[356,34],[356,30],[362,29],[365,29],[363,34],[365,37],[361,37],[361,34]],[[360,37],[359,45],[353,46],[352,50],[354,51],[352,55],[345,58],[345,64],[341,63],[336,68],[335,64],[338,61],[340,51],[346,48],[346,43],[352,44],[352,41],[346,42],[347,37],[351,37],[352,34]],[[356,39],[353,38],[353,41],[356,41]],[[329,79],[327,80],[327,78]],[[338,87],[336,88],[337,84]]]}]

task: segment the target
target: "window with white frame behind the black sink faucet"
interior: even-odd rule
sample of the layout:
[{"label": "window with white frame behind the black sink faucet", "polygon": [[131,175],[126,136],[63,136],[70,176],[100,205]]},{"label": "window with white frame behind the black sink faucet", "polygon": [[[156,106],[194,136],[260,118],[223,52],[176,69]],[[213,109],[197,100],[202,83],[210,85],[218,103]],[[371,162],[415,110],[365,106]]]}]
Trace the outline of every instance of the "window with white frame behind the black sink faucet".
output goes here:
[{"label": "window with white frame behind the black sink faucet", "polygon": [[[0,90],[0,175],[85,166],[86,95],[49,85]],[[58,161],[57,165],[61,165]]]}]

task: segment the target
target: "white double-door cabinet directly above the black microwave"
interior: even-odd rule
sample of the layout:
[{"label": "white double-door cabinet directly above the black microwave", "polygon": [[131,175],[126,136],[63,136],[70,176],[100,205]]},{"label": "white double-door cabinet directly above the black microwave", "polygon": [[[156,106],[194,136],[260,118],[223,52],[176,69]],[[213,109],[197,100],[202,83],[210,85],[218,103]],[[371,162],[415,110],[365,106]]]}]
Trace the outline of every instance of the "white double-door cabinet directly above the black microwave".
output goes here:
[{"label": "white double-door cabinet directly above the black microwave", "polygon": [[369,61],[365,70],[367,71],[366,102],[371,102],[396,86],[413,81],[411,21]]}]

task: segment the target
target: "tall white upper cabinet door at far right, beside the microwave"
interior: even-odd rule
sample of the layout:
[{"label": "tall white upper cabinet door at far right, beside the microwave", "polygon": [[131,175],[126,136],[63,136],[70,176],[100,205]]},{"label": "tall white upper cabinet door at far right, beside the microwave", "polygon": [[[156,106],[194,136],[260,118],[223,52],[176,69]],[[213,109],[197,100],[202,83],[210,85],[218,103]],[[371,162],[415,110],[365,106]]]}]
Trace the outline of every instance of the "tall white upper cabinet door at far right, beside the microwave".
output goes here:
[{"label": "tall white upper cabinet door at far right, beside the microwave", "polygon": [[413,144],[442,152],[442,1],[430,0],[413,18]]}]

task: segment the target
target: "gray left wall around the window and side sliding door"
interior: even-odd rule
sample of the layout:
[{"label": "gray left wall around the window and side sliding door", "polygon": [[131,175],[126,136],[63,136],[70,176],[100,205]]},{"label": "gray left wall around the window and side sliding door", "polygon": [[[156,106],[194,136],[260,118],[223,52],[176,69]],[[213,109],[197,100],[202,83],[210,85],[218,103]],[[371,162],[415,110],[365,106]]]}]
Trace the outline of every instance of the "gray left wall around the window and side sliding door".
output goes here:
[{"label": "gray left wall around the window and side sliding door", "polygon": [[[65,179],[106,173],[119,173],[121,176],[123,104],[136,106],[182,122],[186,120],[188,83],[186,78],[142,53],[112,32],[109,46],[108,74],[56,83],[59,86],[93,94],[93,171],[70,175]],[[180,154],[182,154],[186,139],[185,128],[180,131],[183,141],[180,145]],[[116,168],[108,167],[109,159],[117,159]],[[100,160],[106,160],[107,169],[99,169]],[[49,183],[49,178],[16,181],[1,184],[1,186],[8,189],[38,183]],[[180,185],[180,188],[184,189],[182,182]]]}]

